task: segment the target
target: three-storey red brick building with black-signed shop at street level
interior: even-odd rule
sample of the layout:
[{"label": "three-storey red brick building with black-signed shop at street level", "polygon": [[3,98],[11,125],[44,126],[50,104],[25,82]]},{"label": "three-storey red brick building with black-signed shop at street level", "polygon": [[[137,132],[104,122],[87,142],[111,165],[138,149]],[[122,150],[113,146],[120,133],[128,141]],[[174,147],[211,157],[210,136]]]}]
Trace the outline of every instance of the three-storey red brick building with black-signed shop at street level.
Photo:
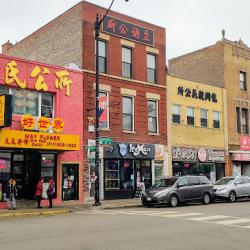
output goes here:
[{"label": "three-storey red brick building with black-signed shop at street level", "polygon": [[[96,14],[106,9],[82,1],[3,53],[83,70],[84,145],[95,138]],[[167,171],[165,29],[110,11],[100,34],[100,92],[104,115],[101,147],[102,198],[133,197]],[[102,101],[101,101],[102,100]],[[91,132],[92,131],[92,132]],[[92,152],[84,155],[84,191],[93,195]]]}]

